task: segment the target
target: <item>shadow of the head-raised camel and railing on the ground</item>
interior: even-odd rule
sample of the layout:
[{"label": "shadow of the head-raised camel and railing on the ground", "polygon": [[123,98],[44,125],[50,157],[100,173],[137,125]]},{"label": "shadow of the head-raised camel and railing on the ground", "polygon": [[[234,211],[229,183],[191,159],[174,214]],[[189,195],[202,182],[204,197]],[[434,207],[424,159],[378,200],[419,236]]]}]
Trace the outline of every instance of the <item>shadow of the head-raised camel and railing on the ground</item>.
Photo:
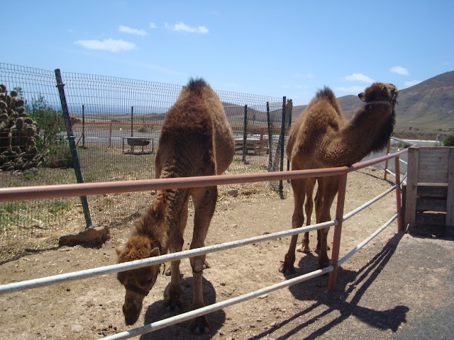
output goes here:
[{"label": "shadow of the head-raised camel and railing on the ground", "polygon": [[[333,312],[335,312],[333,315],[339,313],[340,315],[334,318],[327,318],[331,321],[321,324],[321,327],[313,331],[304,339],[316,339],[333,327],[336,327],[336,325],[341,324],[341,322],[345,321],[350,316],[354,316],[360,321],[370,325],[370,327],[375,327],[376,329],[390,329],[393,332],[397,331],[401,324],[406,323],[406,313],[409,311],[409,307],[397,305],[389,310],[372,310],[358,305],[358,302],[360,302],[361,297],[365,294],[367,288],[369,288],[375,278],[380,275],[384,266],[386,266],[389,259],[391,259],[402,236],[403,233],[395,234],[394,237],[388,240],[382,251],[366,263],[365,266],[360,268],[358,272],[339,268],[336,291],[334,292],[328,292],[328,275],[319,276],[312,280],[290,286],[289,291],[296,299],[315,300],[314,304],[307,307],[305,310],[292,315],[292,317],[284,319],[272,329],[267,329],[267,331],[262,332],[262,334],[256,334],[253,338],[250,338],[250,340],[262,339],[264,336],[272,336],[273,329],[281,328],[286,324],[294,324],[295,320],[298,320],[303,317],[304,314],[308,313],[308,315],[310,315],[309,319],[299,323],[297,327],[290,329],[286,334],[274,339],[288,339],[290,336],[294,336],[301,331],[301,329],[304,329],[304,327],[314,324],[317,320]],[[307,254],[299,262],[299,268],[296,268],[296,275],[315,270],[317,268],[317,261],[317,256]],[[292,278],[296,275],[287,276],[287,278]],[[325,307],[321,312],[316,310],[318,307],[323,306]]]}]

